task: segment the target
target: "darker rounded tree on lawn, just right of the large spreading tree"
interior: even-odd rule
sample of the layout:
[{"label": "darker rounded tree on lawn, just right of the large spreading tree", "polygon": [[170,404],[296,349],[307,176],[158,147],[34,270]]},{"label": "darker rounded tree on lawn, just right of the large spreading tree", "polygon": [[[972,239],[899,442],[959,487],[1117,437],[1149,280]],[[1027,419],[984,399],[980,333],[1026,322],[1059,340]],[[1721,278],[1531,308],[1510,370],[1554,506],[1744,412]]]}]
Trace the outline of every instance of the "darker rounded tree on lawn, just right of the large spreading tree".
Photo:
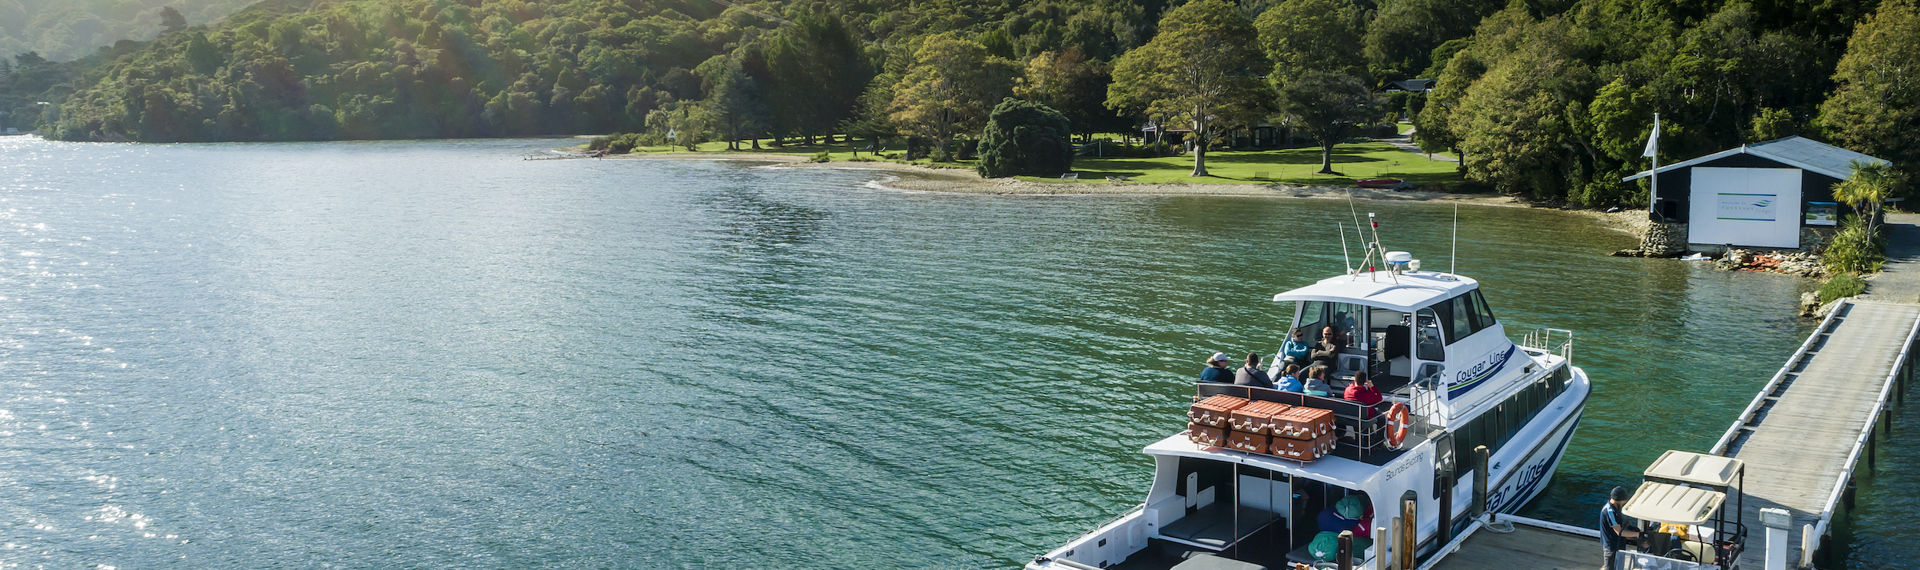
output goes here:
[{"label": "darker rounded tree on lawn, just right of the large spreading tree", "polygon": [[1283,81],[1279,107],[1286,125],[1300,129],[1321,146],[1323,175],[1332,175],[1332,148],[1356,127],[1380,115],[1380,100],[1357,77],[1340,71],[1306,71]]}]

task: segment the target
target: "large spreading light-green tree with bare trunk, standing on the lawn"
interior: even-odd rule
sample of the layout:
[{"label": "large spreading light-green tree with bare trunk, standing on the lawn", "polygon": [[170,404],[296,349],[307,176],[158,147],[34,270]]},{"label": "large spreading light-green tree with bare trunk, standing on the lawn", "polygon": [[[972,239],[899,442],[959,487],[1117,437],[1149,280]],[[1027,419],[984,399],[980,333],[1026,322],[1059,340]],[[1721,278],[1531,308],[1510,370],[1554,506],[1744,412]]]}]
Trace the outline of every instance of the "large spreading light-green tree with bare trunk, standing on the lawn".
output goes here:
[{"label": "large spreading light-green tree with bare trunk, standing on the lawn", "polygon": [[1160,19],[1160,35],[1114,63],[1106,104],[1144,107],[1190,129],[1192,177],[1206,177],[1206,150],[1219,132],[1248,125],[1269,100],[1256,75],[1267,69],[1252,21],[1221,0],[1188,2]]}]

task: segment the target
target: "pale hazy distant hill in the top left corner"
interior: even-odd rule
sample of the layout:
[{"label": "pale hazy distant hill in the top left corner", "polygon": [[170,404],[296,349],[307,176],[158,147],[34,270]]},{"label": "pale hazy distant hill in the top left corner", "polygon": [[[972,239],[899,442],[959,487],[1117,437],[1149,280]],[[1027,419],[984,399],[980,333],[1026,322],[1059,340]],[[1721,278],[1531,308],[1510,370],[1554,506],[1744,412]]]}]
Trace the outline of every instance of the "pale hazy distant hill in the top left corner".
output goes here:
[{"label": "pale hazy distant hill in the top left corner", "polygon": [[209,23],[255,0],[0,0],[0,54],[67,61],[119,40],[152,40],[161,10]]}]

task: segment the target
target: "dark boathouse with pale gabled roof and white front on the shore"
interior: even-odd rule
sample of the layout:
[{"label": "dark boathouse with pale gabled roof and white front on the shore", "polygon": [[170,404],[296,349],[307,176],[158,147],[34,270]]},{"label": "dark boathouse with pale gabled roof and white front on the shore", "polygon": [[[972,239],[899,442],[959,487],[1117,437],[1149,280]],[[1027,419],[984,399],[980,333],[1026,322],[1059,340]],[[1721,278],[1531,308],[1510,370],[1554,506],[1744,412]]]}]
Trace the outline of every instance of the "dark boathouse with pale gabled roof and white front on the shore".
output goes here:
[{"label": "dark boathouse with pale gabled roof and white front on the shore", "polygon": [[[1834,184],[1853,175],[1853,161],[1887,163],[1801,136],[1743,144],[1690,161],[1663,165],[1626,180],[1659,177],[1647,215],[1686,249],[1816,248],[1839,221]],[[1680,249],[1678,244],[1672,244]]]}]

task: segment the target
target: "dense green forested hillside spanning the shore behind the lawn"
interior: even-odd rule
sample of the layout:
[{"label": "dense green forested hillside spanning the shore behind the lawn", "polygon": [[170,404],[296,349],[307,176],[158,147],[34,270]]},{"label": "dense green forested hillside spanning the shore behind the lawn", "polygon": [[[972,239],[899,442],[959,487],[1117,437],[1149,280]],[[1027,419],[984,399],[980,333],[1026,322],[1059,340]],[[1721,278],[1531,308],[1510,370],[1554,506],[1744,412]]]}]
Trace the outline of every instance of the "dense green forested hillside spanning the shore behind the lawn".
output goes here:
[{"label": "dense green forested hillside spanning the shore behind the lawn", "polygon": [[[1653,113],[1668,157],[1805,134],[1910,171],[1910,0],[269,0],[90,63],[0,67],[0,109],[54,100],[38,127],[65,140],[674,132],[935,154],[1006,96],[1198,150],[1261,123],[1331,148],[1405,115],[1473,180],[1632,203],[1619,180],[1644,169]],[[1438,86],[1379,94],[1415,77]]]}]

